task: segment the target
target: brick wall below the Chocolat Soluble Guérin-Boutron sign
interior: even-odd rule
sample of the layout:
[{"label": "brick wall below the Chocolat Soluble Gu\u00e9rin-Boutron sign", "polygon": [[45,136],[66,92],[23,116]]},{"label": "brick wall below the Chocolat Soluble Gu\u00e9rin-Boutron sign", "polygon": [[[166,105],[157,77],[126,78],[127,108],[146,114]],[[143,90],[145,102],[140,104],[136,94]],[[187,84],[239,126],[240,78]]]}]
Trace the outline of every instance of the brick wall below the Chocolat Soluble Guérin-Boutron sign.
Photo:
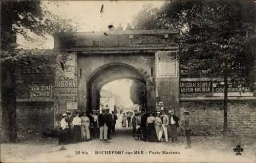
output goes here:
[{"label": "brick wall below the Chocolat Soluble Gu\u00e9rin-Boutron sign", "polygon": [[[232,135],[256,136],[256,102],[228,102],[228,131]],[[223,131],[223,102],[180,102],[181,124],[190,111],[195,135],[219,135]]]}]

